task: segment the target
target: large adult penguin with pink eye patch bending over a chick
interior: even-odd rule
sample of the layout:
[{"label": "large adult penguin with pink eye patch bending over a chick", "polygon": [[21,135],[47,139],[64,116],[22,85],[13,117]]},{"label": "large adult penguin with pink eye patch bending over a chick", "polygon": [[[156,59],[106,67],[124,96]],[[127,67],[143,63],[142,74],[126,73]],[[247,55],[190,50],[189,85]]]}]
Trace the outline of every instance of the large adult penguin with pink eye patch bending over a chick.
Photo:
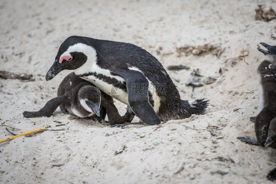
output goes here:
[{"label": "large adult penguin with pink eye patch bending over a chick", "polygon": [[[181,100],[162,64],[129,43],[70,36],[60,45],[46,80],[62,70],[73,70],[77,76],[129,105],[149,125],[202,114],[209,102]],[[114,89],[116,94],[112,93]]]}]

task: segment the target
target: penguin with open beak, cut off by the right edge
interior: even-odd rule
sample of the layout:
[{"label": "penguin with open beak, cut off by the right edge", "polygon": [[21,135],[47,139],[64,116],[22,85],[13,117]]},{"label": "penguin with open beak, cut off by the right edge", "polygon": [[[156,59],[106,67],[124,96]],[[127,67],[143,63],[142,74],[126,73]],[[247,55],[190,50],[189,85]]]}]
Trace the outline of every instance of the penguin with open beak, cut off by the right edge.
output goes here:
[{"label": "penguin with open beak, cut off by the right edge", "polygon": [[265,54],[265,60],[259,65],[258,115],[255,119],[257,140],[251,137],[238,137],[243,142],[253,145],[276,148],[276,46],[260,43],[266,50],[258,48]]}]

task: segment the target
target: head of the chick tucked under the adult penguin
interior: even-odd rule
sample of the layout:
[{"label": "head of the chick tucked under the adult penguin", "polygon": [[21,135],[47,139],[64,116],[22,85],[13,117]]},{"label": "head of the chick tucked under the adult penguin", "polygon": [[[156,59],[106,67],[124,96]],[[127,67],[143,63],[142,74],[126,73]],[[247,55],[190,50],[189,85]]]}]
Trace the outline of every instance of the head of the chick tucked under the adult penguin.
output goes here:
[{"label": "head of the chick tucked under the adult penguin", "polygon": [[101,91],[93,86],[84,85],[78,92],[80,104],[88,112],[94,112],[100,116]]}]

